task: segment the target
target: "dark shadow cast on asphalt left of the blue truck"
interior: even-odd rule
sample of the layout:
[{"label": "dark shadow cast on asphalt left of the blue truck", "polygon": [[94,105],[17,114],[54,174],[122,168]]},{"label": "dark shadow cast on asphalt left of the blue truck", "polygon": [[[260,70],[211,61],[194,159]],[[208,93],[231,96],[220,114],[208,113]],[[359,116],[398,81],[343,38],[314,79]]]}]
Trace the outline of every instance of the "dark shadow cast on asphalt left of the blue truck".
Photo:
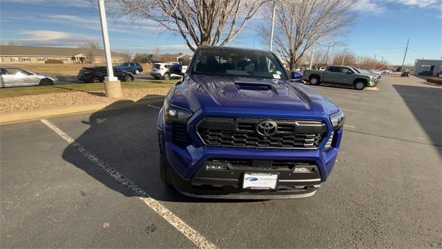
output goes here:
[{"label": "dark shadow cast on asphalt left of the blue truck", "polygon": [[[228,200],[194,199],[183,196],[173,188],[166,187],[160,180],[158,167],[159,149],[156,127],[159,110],[148,107],[146,104],[115,110],[115,107],[123,102],[124,104],[128,102],[137,104],[131,100],[121,100],[91,114],[88,120],[81,121],[82,124],[88,126],[88,129],[75,138],[75,141],[126,176],[153,199],[174,202],[228,202]],[[151,103],[151,105],[161,107],[162,102]],[[97,163],[93,163],[81,154],[78,146],[68,145],[64,149],[63,158],[111,190],[120,192],[124,196],[137,196],[135,192],[126,189],[124,185],[101,169]]]}]

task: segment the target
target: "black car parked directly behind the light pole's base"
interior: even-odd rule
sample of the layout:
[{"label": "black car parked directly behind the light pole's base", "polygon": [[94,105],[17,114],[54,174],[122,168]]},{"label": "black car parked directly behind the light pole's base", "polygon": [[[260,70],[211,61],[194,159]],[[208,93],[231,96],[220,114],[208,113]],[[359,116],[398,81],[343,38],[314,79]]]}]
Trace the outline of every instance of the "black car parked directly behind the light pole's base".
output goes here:
[{"label": "black car parked directly behind the light pole's base", "polygon": [[[131,82],[135,80],[135,77],[132,73],[126,71],[120,71],[117,69],[113,69],[113,74],[118,80],[122,82]],[[92,66],[92,67],[84,67],[81,68],[78,72],[78,80],[85,83],[98,83],[103,82],[104,77],[108,75],[108,71],[106,66]]]}]

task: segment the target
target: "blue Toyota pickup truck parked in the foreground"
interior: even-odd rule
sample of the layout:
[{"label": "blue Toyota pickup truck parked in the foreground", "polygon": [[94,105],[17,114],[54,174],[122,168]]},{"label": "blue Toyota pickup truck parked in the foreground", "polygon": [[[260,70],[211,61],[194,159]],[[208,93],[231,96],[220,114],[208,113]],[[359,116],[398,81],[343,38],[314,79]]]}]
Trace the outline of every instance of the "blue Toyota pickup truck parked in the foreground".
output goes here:
[{"label": "blue Toyota pickup truck parked in the foreground", "polygon": [[[269,51],[200,46],[157,121],[160,175],[186,196],[309,197],[338,155],[345,115]],[[295,74],[296,76],[296,74]],[[302,75],[301,75],[302,77]]]}]

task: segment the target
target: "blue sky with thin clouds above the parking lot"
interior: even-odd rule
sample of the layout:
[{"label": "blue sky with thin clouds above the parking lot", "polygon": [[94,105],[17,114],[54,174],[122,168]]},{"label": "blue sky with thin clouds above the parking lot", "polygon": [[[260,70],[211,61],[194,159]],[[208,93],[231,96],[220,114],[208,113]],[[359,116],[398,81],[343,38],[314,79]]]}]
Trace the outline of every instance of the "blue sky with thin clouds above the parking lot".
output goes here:
[{"label": "blue sky with thin clouds above the parking lot", "polygon": [[[3,44],[77,47],[88,41],[102,43],[98,11],[88,0],[0,0],[0,11]],[[416,58],[441,59],[442,0],[361,0],[354,11],[356,22],[343,38],[347,45],[337,50],[347,48],[357,55],[376,55],[401,64],[410,38],[406,64]],[[252,47],[253,22],[229,45]],[[180,36],[164,32],[152,21],[132,23],[108,17],[108,24],[112,50],[150,53],[159,47],[161,53],[190,53]],[[259,39],[255,46],[265,48]]]}]

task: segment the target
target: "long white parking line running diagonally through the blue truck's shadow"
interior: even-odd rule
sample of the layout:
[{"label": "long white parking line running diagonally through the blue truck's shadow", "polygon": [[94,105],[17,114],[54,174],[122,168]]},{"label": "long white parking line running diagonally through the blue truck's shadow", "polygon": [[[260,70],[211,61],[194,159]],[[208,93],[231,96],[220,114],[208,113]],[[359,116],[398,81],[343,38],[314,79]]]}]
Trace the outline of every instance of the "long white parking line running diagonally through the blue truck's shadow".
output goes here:
[{"label": "long white parking line running diagonally through the blue truck's shadow", "polygon": [[146,205],[148,205],[149,208],[151,208],[153,211],[155,211],[157,214],[162,216],[163,219],[165,219],[167,222],[169,222],[173,227],[180,231],[184,236],[187,237],[190,241],[195,243],[198,248],[217,248],[213,243],[208,241],[204,236],[202,236],[197,230],[191,228],[191,226],[187,225],[180,217],[176,216],[168,210],[164,205],[162,205],[160,202],[158,202],[155,199],[152,199],[148,194],[142,190],[140,187],[135,185],[133,181],[126,178],[126,176],[123,176],[119,172],[117,172],[113,167],[105,163],[103,160],[99,159],[94,154],[90,153],[87,149],[85,149],[79,142],[75,141],[73,138],[68,136],[68,134],[64,133],[64,131],[61,131],[58,127],[55,126],[55,124],[52,124],[48,120],[44,119],[41,120],[44,124],[46,124],[47,127],[52,129],[52,131],[55,131],[58,136],[66,140],[66,142],[70,143],[75,149],[77,149],[83,156],[88,158],[90,161],[95,163],[98,167],[100,167],[104,172],[108,173],[110,176],[115,178],[117,182],[124,185],[128,190],[131,190],[135,195],[138,196]]}]

